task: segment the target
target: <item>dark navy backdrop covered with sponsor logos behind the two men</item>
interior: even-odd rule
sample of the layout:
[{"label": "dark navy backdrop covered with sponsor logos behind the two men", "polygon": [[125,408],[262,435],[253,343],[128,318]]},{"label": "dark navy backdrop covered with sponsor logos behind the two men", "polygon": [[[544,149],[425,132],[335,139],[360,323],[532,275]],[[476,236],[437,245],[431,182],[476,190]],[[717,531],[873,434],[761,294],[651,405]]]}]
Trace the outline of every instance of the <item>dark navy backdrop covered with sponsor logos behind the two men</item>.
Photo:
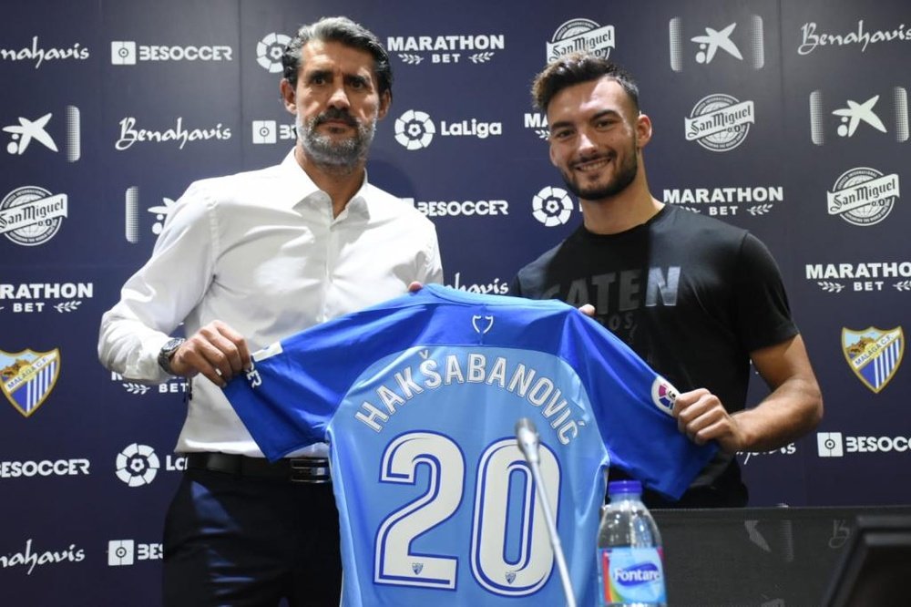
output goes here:
[{"label": "dark navy backdrop covered with sponsor logos behind the two men", "polygon": [[580,221],[530,108],[533,75],[575,48],[629,67],[655,125],[655,195],[769,245],[824,389],[818,432],[740,455],[752,505],[911,499],[906,0],[13,0],[2,11],[3,604],[159,602],[185,385],[107,373],[98,321],[190,181],[292,147],[281,47],[322,15],[350,15],[389,48],[394,104],[370,177],[435,221],[445,282],[469,291],[507,293]]}]

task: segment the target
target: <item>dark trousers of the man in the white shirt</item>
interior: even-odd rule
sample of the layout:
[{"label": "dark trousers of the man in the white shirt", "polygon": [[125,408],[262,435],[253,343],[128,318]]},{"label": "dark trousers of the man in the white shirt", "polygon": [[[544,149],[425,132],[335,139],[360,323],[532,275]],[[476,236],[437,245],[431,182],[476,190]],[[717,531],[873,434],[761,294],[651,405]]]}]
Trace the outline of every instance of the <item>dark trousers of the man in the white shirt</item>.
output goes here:
[{"label": "dark trousers of the man in the white shirt", "polygon": [[336,607],[332,485],[188,469],[165,520],[167,607]]}]

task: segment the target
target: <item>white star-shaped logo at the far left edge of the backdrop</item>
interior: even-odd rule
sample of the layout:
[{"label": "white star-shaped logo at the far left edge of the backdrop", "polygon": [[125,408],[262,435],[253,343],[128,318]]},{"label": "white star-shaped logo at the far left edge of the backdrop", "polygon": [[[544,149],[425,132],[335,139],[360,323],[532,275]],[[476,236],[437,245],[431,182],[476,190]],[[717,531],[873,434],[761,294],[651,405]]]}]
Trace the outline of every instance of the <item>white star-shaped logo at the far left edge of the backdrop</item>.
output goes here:
[{"label": "white star-shaped logo at the far left edge of the backdrop", "polygon": [[[81,113],[76,106],[66,106],[62,111],[37,115],[38,112],[21,112],[15,121],[3,127],[7,133],[6,153],[26,159],[36,155],[36,150],[54,153],[63,149],[67,162],[76,162],[82,157]],[[30,118],[34,117],[34,118]],[[26,151],[31,150],[27,155]]]}]

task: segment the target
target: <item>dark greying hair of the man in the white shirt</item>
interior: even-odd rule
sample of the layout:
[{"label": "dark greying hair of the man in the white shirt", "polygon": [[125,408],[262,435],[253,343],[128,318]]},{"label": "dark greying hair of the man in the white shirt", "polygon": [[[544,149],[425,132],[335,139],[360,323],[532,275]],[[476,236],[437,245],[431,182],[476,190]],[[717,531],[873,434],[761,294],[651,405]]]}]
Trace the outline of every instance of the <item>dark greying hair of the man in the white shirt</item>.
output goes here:
[{"label": "dark greying hair of the man in the white shirt", "polygon": [[341,42],[345,46],[370,53],[374,57],[374,76],[379,94],[382,97],[386,91],[389,91],[389,96],[392,97],[393,69],[389,65],[389,54],[380,44],[380,39],[374,36],[370,30],[343,16],[322,17],[319,21],[301,26],[292,41],[285,46],[284,53],[281,55],[281,66],[283,67],[283,77],[291,83],[292,87],[297,86],[297,73],[301,69],[303,46],[311,40]]}]

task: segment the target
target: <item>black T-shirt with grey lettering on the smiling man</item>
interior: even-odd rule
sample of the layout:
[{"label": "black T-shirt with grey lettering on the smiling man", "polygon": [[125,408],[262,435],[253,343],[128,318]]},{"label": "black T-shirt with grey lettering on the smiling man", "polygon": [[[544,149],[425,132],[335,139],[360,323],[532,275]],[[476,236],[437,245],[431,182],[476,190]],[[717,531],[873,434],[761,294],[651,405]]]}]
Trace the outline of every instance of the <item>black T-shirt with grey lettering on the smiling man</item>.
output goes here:
[{"label": "black T-shirt with grey lettering on the smiling man", "polygon": [[[670,206],[619,234],[579,227],[519,271],[510,293],[592,304],[599,323],[679,390],[705,387],[730,412],[746,405],[749,353],[797,334],[781,273],[763,243]],[[742,488],[739,471],[726,470],[733,467],[722,455],[694,486],[736,474],[733,485]]]}]

